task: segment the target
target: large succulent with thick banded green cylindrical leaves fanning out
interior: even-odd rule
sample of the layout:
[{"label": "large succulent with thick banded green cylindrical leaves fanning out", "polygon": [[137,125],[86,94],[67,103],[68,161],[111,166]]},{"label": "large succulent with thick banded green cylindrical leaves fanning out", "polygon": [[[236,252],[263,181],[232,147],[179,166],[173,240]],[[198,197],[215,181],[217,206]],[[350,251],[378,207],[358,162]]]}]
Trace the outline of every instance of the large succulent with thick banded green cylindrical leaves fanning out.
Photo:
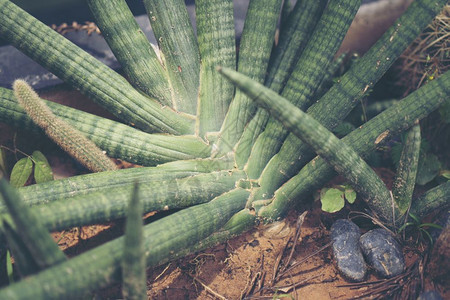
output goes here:
[{"label": "large succulent with thick banded green cylindrical leaves fanning out", "polygon": [[[145,212],[180,209],[144,227],[146,264],[155,266],[283,218],[335,170],[382,220],[392,223],[404,214],[409,200],[401,200],[399,209],[361,157],[444,102],[450,73],[341,140],[329,130],[367,95],[445,0],[414,1],[324,94],[359,0],[297,1],[292,9],[281,0],[252,0],[238,52],[231,0],[196,1],[197,35],[182,0],[144,0],[158,50],[124,0],[88,3],[125,77],[7,0],[0,0],[0,37],[121,122],[46,102],[57,118],[107,155],[147,167],[18,189],[47,230],[126,216],[138,181],[134,197]],[[8,89],[0,89],[0,121],[43,134]],[[430,190],[411,211],[421,216],[447,204],[449,189],[447,182]],[[116,282],[123,240],[56,261],[0,290],[0,298],[68,298]]]}]

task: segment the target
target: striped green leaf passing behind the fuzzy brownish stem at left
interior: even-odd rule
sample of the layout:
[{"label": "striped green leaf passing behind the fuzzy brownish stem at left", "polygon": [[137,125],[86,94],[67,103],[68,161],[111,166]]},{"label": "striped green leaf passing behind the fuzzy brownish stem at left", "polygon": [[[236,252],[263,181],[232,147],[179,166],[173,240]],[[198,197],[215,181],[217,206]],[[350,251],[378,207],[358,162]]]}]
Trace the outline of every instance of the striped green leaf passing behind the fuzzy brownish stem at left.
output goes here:
[{"label": "striped green leaf passing behind the fuzzy brownish stem at left", "polygon": [[[82,132],[114,158],[152,166],[182,159],[206,158],[211,154],[211,147],[195,136],[148,134],[54,102],[44,103],[58,118]],[[17,103],[13,92],[4,88],[0,88],[0,121],[43,134]]]}]

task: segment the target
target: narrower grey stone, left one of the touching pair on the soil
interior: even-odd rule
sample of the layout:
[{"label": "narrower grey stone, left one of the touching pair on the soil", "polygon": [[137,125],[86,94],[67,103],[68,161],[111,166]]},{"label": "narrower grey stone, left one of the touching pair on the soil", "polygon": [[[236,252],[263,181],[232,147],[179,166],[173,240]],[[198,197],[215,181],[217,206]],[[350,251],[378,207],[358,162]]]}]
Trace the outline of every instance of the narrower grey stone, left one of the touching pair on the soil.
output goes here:
[{"label": "narrower grey stone, left one of the touching pair on the soil", "polygon": [[355,223],[340,219],[331,226],[331,240],[333,242],[333,255],[337,268],[348,279],[363,281],[367,267],[364,262],[359,238],[361,233]]}]

